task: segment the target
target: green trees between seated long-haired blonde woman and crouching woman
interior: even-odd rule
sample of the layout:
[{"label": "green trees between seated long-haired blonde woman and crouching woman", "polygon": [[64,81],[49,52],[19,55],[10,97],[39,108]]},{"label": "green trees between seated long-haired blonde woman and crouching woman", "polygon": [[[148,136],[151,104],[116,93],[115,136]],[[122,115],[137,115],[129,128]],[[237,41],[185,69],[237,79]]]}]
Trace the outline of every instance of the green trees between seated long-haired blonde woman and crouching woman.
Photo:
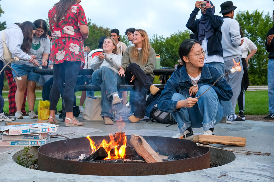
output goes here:
[{"label": "green trees between seated long-haired blonde woman and crouching woman", "polygon": [[160,55],[161,66],[174,68],[178,64],[178,49],[180,44],[189,39],[189,30],[175,32],[170,37],[163,38],[163,36],[153,35],[150,39],[150,44],[155,50],[156,54]]}]

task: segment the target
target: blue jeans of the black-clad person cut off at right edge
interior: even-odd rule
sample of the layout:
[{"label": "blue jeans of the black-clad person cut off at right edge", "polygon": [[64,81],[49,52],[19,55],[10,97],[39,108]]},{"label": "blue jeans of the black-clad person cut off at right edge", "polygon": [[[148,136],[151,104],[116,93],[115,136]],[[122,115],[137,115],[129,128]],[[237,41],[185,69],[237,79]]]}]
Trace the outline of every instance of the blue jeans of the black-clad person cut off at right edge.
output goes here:
[{"label": "blue jeans of the black-clad person cut off at right edge", "polygon": [[267,84],[268,84],[268,108],[269,114],[274,115],[274,59],[268,60],[267,66]]}]

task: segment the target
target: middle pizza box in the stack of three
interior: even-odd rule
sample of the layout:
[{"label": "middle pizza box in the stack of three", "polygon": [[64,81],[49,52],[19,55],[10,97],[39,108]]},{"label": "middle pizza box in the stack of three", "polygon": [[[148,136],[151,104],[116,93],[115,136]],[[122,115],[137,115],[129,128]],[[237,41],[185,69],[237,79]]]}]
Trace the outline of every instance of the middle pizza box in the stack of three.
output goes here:
[{"label": "middle pizza box in the stack of three", "polygon": [[5,135],[0,133],[2,140],[41,140],[47,138],[47,133],[35,133],[26,135]]}]

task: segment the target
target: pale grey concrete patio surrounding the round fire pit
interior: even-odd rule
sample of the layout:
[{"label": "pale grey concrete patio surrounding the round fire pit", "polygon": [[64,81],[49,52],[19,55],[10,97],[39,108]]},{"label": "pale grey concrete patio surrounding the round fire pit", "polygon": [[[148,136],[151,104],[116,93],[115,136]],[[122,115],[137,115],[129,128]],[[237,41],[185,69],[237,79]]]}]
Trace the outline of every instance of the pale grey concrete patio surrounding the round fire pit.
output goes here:
[{"label": "pale grey concrete patio surrounding the round fire pit", "polygon": [[[16,120],[16,122],[34,122],[36,119]],[[112,126],[104,125],[103,121],[85,121],[80,115],[78,120],[84,122],[84,126],[64,127],[61,122],[58,131],[52,134],[66,134],[70,138],[85,137],[86,135],[108,135],[110,133],[120,132],[117,124]],[[0,126],[5,122],[0,122]],[[177,133],[177,125],[166,127],[166,124],[149,123],[140,121],[138,123],[125,122],[122,132],[126,135],[132,133],[138,135],[167,136],[171,137]],[[202,128],[193,129],[194,134],[201,134]],[[236,159],[223,166],[192,171],[187,173],[159,175],[159,176],[87,176],[76,174],[59,174],[32,170],[22,167],[14,162],[12,156],[22,150],[23,147],[0,147],[0,180],[1,181],[158,181],[158,182],[179,182],[179,181],[274,181],[274,123],[247,120],[244,122],[235,121],[234,124],[219,123],[214,127],[215,135],[223,136],[241,136],[246,137],[245,147],[222,146],[226,149],[243,149],[251,151],[262,151],[272,153],[266,155],[246,155],[234,153]],[[64,140],[63,137],[51,138],[50,142]],[[115,170],[115,169],[114,169]],[[220,177],[221,175],[224,175]],[[220,177],[220,178],[218,178]]]}]

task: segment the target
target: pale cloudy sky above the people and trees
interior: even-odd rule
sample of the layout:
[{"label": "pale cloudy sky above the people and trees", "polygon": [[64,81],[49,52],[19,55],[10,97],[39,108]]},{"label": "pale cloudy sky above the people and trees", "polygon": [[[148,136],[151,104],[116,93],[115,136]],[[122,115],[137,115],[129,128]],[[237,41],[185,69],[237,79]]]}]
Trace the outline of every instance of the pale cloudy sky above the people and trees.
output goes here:
[{"label": "pale cloudy sky above the people and trees", "polygon": [[[48,10],[59,0],[2,0],[2,9],[5,11],[0,21],[7,25],[24,21],[34,22],[36,19],[47,19]],[[117,28],[124,35],[127,28],[144,29],[152,38],[153,34],[170,36],[178,30],[186,30],[186,22],[195,7],[195,0],[139,0],[139,1],[110,1],[110,0],[82,0],[86,18],[92,23],[110,29]],[[216,12],[219,14],[220,4],[225,0],[213,0]],[[272,16],[274,3],[272,0],[238,0],[234,1],[238,11],[264,11]],[[200,18],[201,11],[196,18]],[[267,30],[266,30],[267,31]]]}]

